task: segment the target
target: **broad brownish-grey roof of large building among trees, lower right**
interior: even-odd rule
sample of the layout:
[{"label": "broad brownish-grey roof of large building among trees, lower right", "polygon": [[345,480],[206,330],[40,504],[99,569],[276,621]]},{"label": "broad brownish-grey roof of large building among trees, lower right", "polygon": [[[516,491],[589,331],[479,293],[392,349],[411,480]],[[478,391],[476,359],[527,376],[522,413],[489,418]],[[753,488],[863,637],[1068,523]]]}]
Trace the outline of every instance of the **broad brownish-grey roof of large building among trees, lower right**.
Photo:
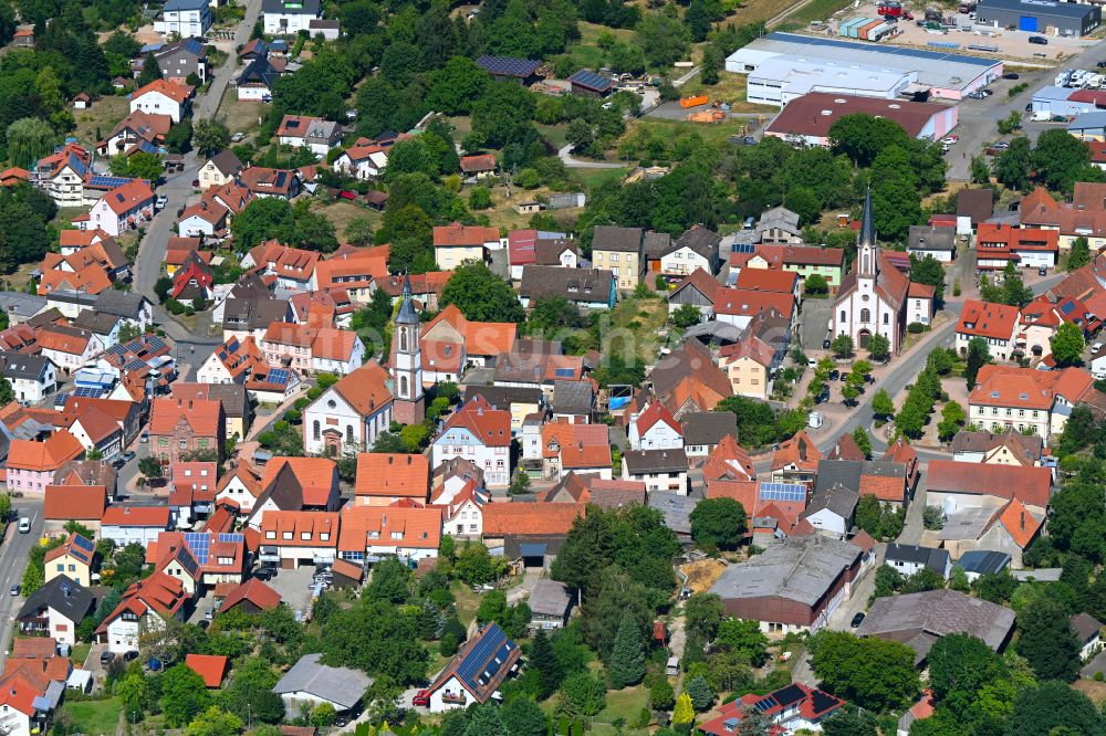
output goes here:
[{"label": "broad brownish-grey roof of large building among trees, lower right", "polygon": [[946,634],[971,634],[999,651],[1013,627],[1014,612],[1009,608],[942,589],[877,599],[856,633],[901,642],[920,663]]}]

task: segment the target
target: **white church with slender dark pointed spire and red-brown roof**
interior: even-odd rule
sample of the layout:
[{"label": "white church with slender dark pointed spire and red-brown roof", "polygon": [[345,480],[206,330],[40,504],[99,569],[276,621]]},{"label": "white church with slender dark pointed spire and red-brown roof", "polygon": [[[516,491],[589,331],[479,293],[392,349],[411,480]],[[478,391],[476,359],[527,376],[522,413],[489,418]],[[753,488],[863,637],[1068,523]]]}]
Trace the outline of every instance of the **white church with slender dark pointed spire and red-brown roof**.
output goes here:
[{"label": "white church with slender dark pointed spire and red-brown roof", "polygon": [[902,346],[907,326],[910,277],[880,252],[872,217],[872,190],[864,198],[856,259],[837,290],[832,315],[832,336],[848,335],[865,349],[873,335],[890,341],[891,353]]}]

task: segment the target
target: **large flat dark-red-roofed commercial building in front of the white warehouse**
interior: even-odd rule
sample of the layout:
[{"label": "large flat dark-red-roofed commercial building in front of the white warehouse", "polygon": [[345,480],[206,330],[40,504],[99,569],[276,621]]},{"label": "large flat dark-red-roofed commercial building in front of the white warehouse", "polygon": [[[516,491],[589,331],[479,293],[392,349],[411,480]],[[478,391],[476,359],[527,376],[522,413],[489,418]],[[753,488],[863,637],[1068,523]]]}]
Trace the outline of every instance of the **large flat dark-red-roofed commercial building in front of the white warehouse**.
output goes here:
[{"label": "large flat dark-red-roofed commercial building in front of the white warehouse", "polygon": [[956,105],[812,92],[787,103],[764,135],[807,146],[828,146],[830,127],[838,118],[856,114],[895,120],[911,138],[926,140],[945,137],[960,119]]}]

